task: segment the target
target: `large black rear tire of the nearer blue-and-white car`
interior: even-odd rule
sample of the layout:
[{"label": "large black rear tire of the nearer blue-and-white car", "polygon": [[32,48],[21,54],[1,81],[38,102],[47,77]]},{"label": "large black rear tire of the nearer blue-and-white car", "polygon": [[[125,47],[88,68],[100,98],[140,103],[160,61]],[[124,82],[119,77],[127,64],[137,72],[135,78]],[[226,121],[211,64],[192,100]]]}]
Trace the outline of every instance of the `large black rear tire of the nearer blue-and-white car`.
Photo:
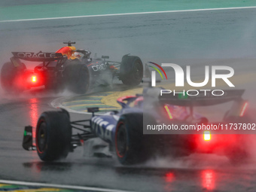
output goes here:
[{"label": "large black rear tire of the nearer blue-and-white car", "polygon": [[143,135],[143,114],[124,114],[115,133],[117,159],[123,165],[144,163],[151,157],[148,137]]}]

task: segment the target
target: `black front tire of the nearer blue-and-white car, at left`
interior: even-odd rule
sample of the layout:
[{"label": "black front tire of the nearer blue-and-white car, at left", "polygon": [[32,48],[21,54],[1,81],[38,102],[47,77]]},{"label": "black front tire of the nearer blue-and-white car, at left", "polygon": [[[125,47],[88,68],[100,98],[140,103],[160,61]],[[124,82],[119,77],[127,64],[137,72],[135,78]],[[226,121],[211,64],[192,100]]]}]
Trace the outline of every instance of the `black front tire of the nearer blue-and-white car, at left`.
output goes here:
[{"label": "black front tire of the nearer blue-and-white car, at left", "polygon": [[35,131],[38,156],[43,161],[66,158],[71,151],[72,127],[65,111],[41,114]]}]

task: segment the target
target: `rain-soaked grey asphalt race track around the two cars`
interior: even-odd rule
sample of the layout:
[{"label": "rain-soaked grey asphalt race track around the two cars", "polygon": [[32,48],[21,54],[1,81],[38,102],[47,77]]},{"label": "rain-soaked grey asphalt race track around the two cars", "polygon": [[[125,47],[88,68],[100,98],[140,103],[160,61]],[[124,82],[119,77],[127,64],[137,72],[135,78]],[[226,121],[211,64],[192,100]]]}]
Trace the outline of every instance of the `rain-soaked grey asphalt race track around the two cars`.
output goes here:
[{"label": "rain-soaked grey asphalt race track around the two cars", "polygon": [[[143,63],[227,65],[246,76],[256,70],[255,18],[252,8],[0,23],[0,59],[3,64],[15,50],[53,52],[62,41],[70,40],[78,48],[109,55],[111,60],[120,61],[131,53]],[[256,105],[255,79],[254,75],[236,78],[237,88],[246,89],[251,108]],[[108,91],[116,89],[109,87]],[[35,126],[41,112],[53,109],[53,99],[66,96],[73,95],[40,88],[19,96],[1,92],[0,179],[135,191],[256,190],[256,158],[233,166],[226,157],[194,154],[120,166],[115,158],[83,157],[78,148],[62,162],[41,162],[35,151],[23,150],[23,127]],[[72,113],[71,117],[78,120],[90,115]]]}]

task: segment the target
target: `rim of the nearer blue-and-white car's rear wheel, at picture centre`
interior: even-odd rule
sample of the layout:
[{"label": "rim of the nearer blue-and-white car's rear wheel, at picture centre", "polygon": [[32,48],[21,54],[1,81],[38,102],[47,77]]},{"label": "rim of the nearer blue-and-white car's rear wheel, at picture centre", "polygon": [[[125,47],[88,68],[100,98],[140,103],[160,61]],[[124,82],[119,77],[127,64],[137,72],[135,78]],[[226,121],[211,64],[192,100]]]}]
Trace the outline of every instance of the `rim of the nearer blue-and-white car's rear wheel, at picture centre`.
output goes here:
[{"label": "rim of the nearer blue-and-white car's rear wheel, at picture centre", "polygon": [[126,136],[126,127],[123,123],[117,128],[116,132],[116,151],[118,157],[124,157],[127,150],[127,136]]}]

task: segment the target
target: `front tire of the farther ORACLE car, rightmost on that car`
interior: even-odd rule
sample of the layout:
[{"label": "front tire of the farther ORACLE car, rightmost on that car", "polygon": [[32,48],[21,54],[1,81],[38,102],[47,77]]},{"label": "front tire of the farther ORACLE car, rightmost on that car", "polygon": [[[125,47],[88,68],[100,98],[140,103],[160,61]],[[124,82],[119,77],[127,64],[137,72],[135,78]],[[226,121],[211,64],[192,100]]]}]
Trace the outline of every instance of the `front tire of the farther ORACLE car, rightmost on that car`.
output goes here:
[{"label": "front tire of the farther ORACLE car, rightmost on that car", "polygon": [[143,65],[139,56],[123,56],[120,66],[120,80],[128,86],[136,86],[142,82]]}]

